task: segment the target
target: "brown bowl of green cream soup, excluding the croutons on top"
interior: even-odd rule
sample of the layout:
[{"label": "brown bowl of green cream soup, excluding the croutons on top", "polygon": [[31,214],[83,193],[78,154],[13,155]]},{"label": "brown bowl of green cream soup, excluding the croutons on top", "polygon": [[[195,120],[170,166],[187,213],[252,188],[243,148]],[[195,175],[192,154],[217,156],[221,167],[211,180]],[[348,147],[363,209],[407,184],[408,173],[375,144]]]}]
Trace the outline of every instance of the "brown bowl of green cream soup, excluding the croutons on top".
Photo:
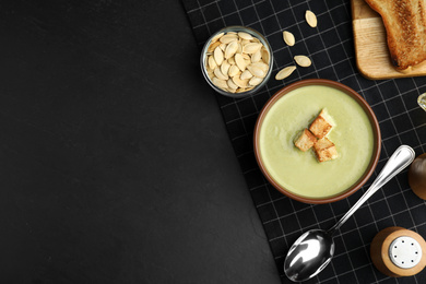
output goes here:
[{"label": "brown bowl of green cream soup, excluding the croutons on top", "polygon": [[[322,109],[333,121],[327,139],[338,157],[319,162],[313,147],[300,151],[295,140]],[[274,94],[255,129],[255,154],[269,182],[305,203],[330,203],[357,191],[377,166],[380,128],[366,100],[341,83],[309,79]]]}]

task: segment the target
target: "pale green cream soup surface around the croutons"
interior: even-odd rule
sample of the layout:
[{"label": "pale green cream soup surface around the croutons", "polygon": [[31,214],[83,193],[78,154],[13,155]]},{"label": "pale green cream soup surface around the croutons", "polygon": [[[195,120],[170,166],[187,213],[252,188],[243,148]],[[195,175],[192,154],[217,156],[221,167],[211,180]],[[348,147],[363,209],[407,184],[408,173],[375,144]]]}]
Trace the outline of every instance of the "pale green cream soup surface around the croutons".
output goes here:
[{"label": "pale green cream soup surface around the croutons", "polygon": [[[297,134],[326,108],[335,126],[328,138],[339,157],[319,163],[313,150],[294,145]],[[271,177],[295,194],[332,197],[365,173],[374,151],[372,128],[355,99],[333,87],[303,86],[282,96],[265,115],[259,133],[260,154]]]}]

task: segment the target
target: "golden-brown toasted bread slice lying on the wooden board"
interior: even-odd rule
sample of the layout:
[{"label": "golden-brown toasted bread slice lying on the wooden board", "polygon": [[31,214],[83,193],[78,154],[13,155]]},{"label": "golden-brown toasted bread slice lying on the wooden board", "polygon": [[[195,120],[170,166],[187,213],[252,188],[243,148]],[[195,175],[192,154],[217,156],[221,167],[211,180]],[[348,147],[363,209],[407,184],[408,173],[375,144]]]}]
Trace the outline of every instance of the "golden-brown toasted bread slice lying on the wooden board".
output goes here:
[{"label": "golden-brown toasted bread slice lying on the wooden board", "polygon": [[426,59],[425,0],[366,0],[381,15],[393,66],[405,70]]}]

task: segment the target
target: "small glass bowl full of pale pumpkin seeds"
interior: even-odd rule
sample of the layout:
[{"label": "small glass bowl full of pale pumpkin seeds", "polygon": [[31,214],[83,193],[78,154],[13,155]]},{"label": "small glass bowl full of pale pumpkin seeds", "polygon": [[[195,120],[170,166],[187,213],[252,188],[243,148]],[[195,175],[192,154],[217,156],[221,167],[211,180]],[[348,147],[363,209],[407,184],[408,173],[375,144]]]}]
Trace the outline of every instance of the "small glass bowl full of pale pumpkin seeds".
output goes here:
[{"label": "small glass bowl full of pale pumpkin seeds", "polygon": [[228,26],[213,34],[201,52],[201,69],[220,94],[246,97],[260,90],[271,76],[272,50],[257,31]]}]

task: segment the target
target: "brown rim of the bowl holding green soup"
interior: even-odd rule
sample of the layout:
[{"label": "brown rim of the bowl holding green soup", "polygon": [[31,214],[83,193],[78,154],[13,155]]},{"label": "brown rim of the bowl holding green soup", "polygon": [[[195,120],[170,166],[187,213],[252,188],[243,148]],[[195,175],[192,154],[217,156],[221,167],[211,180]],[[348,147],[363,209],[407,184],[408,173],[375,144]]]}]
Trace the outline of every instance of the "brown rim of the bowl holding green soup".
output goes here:
[{"label": "brown rim of the bowl holding green soup", "polygon": [[[262,162],[261,156],[260,156],[260,147],[259,147],[259,141],[258,141],[259,140],[259,131],[260,131],[261,125],[262,125],[263,119],[264,119],[265,115],[268,114],[269,109],[281,97],[283,97],[284,95],[286,95],[291,91],[296,90],[296,88],[301,87],[301,86],[308,86],[308,85],[331,86],[331,87],[334,87],[334,88],[338,88],[338,90],[342,91],[346,95],[350,95],[352,98],[354,98],[363,107],[364,111],[366,111],[366,114],[368,116],[368,119],[369,119],[369,121],[371,123],[371,127],[372,127],[372,132],[374,132],[374,151],[372,151],[374,154],[372,154],[372,158],[371,158],[371,161],[370,161],[370,163],[369,163],[369,165],[367,167],[366,173],[351,188],[348,188],[347,190],[343,191],[342,193],[339,193],[339,194],[335,194],[335,196],[332,196],[332,197],[321,198],[321,199],[313,199],[313,198],[307,198],[307,197],[295,194],[295,193],[293,193],[291,191],[287,191],[284,187],[282,187],[280,184],[277,184],[272,178],[272,176],[268,173],[265,166],[263,165],[263,162]],[[258,116],[258,119],[256,121],[253,144],[255,144],[255,156],[256,156],[256,161],[257,161],[257,163],[258,163],[258,165],[260,167],[260,170],[262,171],[263,176],[268,179],[268,181],[276,190],[279,190],[281,193],[283,193],[283,194],[285,194],[285,196],[287,196],[287,197],[289,197],[289,198],[292,198],[294,200],[297,200],[297,201],[300,201],[300,202],[304,202],[304,203],[308,203],[308,204],[324,204],[324,203],[331,203],[331,202],[340,201],[342,199],[345,199],[345,198],[350,197],[351,194],[353,194],[357,190],[359,190],[365,185],[365,182],[367,182],[367,180],[370,178],[370,176],[375,171],[375,168],[376,168],[376,166],[377,166],[377,164],[379,162],[380,152],[381,152],[381,133],[380,133],[379,122],[378,122],[378,120],[376,118],[376,115],[372,111],[371,107],[353,88],[351,88],[351,87],[348,87],[348,86],[346,86],[346,85],[344,85],[344,84],[342,84],[340,82],[332,81],[332,80],[327,80],[327,79],[306,79],[306,80],[301,80],[301,81],[292,83],[292,84],[289,84],[287,86],[284,86],[283,88],[279,90],[272,97],[269,98],[267,104],[261,109],[261,111],[260,111],[260,114]]]}]

